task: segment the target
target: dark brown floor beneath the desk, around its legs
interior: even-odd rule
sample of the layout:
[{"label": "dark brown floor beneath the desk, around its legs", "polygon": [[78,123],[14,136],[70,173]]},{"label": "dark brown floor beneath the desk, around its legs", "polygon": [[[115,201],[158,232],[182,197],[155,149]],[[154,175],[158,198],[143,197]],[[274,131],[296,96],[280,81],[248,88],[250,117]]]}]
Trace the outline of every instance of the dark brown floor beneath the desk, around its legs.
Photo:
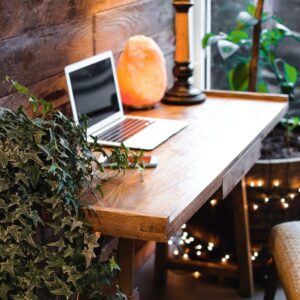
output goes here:
[{"label": "dark brown floor beneath the desk, around its legs", "polygon": [[[236,288],[221,284],[205,282],[201,277],[195,279],[192,274],[168,271],[168,285],[165,289],[155,289],[153,286],[154,257],[136,274],[136,286],[139,287],[141,300],[239,300]],[[263,299],[263,288],[256,287],[251,300]],[[284,293],[278,289],[275,300],[285,300]]]}]

